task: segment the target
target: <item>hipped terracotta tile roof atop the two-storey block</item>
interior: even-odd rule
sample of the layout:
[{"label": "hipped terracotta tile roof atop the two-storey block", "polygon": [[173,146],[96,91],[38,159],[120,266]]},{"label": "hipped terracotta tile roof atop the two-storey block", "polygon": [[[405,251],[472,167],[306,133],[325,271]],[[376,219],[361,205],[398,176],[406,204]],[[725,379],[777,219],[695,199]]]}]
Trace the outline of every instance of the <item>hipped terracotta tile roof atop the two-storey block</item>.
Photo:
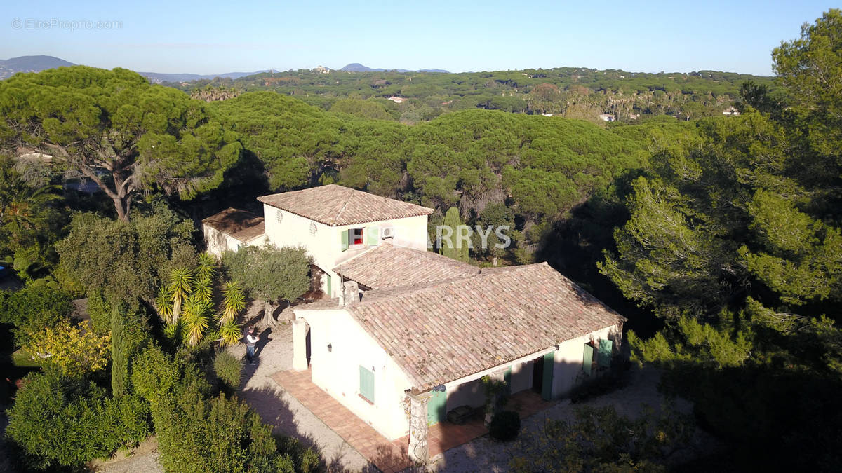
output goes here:
[{"label": "hipped terracotta tile roof atop the two-storey block", "polygon": [[337,184],[264,195],[258,197],[258,200],[329,226],[352,225],[433,213],[433,209],[421,205],[387,199]]}]

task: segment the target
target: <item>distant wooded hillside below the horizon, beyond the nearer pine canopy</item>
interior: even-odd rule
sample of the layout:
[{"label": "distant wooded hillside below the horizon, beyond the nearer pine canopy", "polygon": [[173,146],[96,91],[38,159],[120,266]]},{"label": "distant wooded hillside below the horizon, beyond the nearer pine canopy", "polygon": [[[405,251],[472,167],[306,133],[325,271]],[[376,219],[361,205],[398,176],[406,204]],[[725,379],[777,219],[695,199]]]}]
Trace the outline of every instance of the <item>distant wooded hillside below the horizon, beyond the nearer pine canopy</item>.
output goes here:
[{"label": "distant wooded hillside below the horizon, beyond the nearer pine canopy", "polygon": [[[733,72],[653,74],[575,67],[464,73],[300,70],[164,83],[206,101],[268,90],[325,110],[408,124],[464,109],[552,114],[601,124],[660,115],[679,120],[721,116],[738,102],[744,82],[775,85],[770,77]],[[389,99],[396,97],[404,100]]]}]

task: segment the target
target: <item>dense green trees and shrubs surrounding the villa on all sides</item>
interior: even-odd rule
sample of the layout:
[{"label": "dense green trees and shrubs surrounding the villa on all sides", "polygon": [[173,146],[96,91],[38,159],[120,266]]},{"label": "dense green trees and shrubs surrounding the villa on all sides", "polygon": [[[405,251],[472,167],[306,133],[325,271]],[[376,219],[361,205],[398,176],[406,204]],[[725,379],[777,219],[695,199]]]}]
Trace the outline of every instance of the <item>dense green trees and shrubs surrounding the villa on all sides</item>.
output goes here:
[{"label": "dense green trees and shrubs surrounding the villa on all sides", "polygon": [[[303,294],[306,255],[216,263],[196,222],[341,183],[428,205],[431,227],[509,225],[512,246],[472,250],[472,263],[547,261],[626,315],[632,360],[660,369],[664,396],[692,401],[692,422],[722,441],[690,470],[834,470],[842,12],[772,58],[774,80],[290,72],[179,85],[195,98],[123,69],[0,82],[0,258],[22,286],[0,293],[0,322],[18,350],[9,372],[32,371],[8,411],[14,466],[75,469],[155,433],[168,470],[320,468],[233,396],[239,367],[222,350],[247,296]],[[741,114],[723,116],[731,104]],[[535,454],[559,470],[658,470],[671,440],[658,432],[647,449],[600,440],[607,428],[578,443],[568,432]]]}]

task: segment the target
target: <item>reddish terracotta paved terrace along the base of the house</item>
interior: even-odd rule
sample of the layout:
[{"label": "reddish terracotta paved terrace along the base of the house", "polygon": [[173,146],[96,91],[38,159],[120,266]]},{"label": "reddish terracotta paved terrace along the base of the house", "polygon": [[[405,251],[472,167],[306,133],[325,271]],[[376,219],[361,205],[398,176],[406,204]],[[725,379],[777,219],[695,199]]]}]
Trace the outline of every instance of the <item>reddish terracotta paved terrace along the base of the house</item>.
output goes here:
[{"label": "reddish terracotta paved terrace along the base of the house", "polygon": [[[322,391],[322,388],[314,385],[309,369],[279,371],[271,378],[381,471],[401,471],[413,464],[407,456],[408,435],[389,441],[327,392]],[[544,401],[536,392],[527,390],[510,396],[507,407],[519,412],[522,418],[540,412],[552,404],[553,401]],[[427,434],[429,457],[433,458],[486,433],[488,429],[483,423],[482,412],[475,413],[462,425],[446,422],[434,424],[429,427]]]}]

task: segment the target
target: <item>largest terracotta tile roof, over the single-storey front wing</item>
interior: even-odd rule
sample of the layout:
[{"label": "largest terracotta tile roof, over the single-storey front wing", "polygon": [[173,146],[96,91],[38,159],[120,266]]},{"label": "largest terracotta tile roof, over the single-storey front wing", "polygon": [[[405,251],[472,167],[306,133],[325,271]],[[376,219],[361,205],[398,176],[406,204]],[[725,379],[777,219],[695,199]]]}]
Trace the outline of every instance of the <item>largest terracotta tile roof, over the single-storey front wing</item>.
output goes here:
[{"label": "largest terracotta tile roof, over the single-storey front wing", "polygon": [[626,320],[546,263],[385,291],[366,292],[346,310],[414,391]]}]

